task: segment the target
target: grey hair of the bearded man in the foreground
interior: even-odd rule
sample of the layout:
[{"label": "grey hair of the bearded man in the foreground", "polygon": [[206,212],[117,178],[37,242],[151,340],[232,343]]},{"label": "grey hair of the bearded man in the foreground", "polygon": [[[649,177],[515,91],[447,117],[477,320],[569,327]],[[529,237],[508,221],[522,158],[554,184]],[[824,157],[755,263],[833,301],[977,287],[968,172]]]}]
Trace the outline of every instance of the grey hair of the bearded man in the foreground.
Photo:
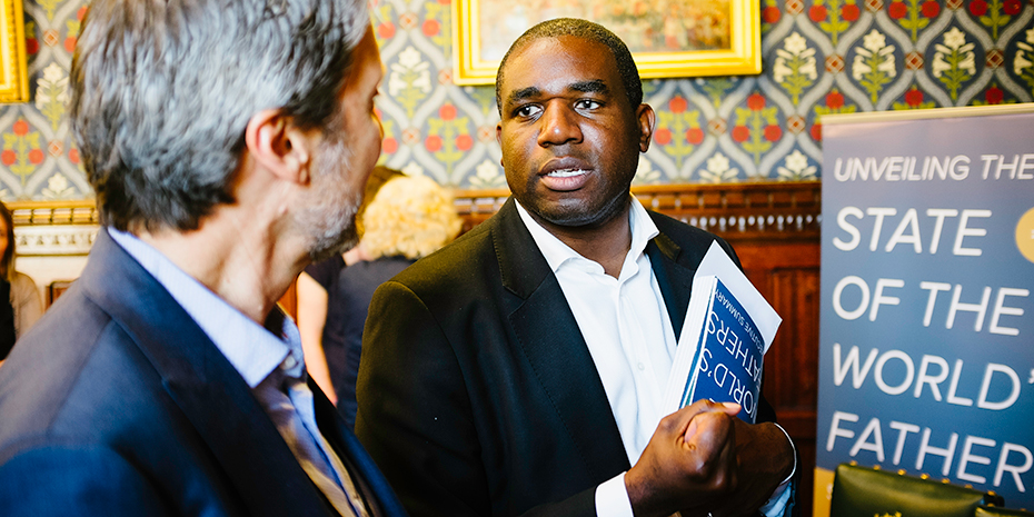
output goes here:
[{"label": "grey hair of the bearded man in the foreground", "polygon": [[365,0],[95,0],[70,116],[101,220],[197,229],[232,185],[250,118],[326,128]]}]

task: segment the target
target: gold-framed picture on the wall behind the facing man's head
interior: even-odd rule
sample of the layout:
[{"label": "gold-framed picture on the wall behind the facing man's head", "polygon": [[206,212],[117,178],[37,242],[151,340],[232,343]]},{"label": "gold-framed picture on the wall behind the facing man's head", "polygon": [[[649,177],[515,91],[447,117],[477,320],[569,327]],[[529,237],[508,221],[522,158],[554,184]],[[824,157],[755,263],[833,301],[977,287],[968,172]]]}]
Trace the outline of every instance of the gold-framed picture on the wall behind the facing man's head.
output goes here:
[{"label": "gold-framed picture on the wall behind the facing man's head", "polygon": [[559,17],[613,30],[643,79],[762,71],[757,0],[454,0],[453,81],[495,83],[510,43],[533,24]]}]

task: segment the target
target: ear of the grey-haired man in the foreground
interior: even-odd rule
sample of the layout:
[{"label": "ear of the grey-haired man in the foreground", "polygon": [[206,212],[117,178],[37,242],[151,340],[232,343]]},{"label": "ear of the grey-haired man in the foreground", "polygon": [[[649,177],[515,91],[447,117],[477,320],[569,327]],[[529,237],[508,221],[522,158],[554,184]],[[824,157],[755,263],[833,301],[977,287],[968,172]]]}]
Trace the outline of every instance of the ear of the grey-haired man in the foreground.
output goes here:
[{"label": "ear of the grey-haired man in the foreground", "polygon": [[245,130],[245,146],[255,161],[275,176],[308,183],[312,141],[282,111],[268,109],[255,113]]}]

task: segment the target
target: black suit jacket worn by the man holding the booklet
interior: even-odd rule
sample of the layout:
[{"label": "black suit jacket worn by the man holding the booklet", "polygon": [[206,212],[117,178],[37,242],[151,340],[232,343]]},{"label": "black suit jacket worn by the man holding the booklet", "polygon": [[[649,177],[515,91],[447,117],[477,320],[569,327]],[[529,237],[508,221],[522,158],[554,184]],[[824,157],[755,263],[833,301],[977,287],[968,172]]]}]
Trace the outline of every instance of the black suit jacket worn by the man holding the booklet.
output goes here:
[{"label": "black suit jacket worn by the man holding the booklet", "polygon": [[[646,252],[678,336],[716,237],[650,217],[660,235]],[[362,341],[356,434],[411,515],[595,515],[596,486],[630,467],[578,325],[513,199],[381,286]],[[758,419],[774,418],[762,406]]]}]

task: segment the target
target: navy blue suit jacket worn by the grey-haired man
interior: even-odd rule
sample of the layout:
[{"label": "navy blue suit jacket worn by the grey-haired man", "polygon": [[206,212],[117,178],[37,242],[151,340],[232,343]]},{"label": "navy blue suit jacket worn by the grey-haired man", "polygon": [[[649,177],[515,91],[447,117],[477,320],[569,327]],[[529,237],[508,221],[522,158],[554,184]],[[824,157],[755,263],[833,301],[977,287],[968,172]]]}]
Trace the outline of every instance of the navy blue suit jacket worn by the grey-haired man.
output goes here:
[{"label": "navy blue suit jacket worn by the grey-haired man", "polygon": [[[326,397],[376,515],[405,511]],[[0,368],[0,515],[335,515],[215,344],[101,231]]]}]

